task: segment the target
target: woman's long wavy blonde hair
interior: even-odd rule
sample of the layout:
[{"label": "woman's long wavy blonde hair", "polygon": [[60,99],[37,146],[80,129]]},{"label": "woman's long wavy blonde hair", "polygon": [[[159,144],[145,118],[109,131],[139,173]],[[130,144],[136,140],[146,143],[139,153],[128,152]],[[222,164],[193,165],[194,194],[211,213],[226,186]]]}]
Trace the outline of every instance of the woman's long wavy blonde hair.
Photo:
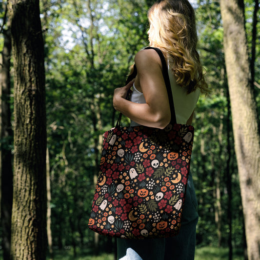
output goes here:
[{"label": "woman's long wavy blonde hair", "polygon": [[150,46],[158,47],[180,86],[191,93],[197,88],[208,94],[200,56],[197,51],[195,11],[188,0],[160,0],[148,11],[154,33]]}]

